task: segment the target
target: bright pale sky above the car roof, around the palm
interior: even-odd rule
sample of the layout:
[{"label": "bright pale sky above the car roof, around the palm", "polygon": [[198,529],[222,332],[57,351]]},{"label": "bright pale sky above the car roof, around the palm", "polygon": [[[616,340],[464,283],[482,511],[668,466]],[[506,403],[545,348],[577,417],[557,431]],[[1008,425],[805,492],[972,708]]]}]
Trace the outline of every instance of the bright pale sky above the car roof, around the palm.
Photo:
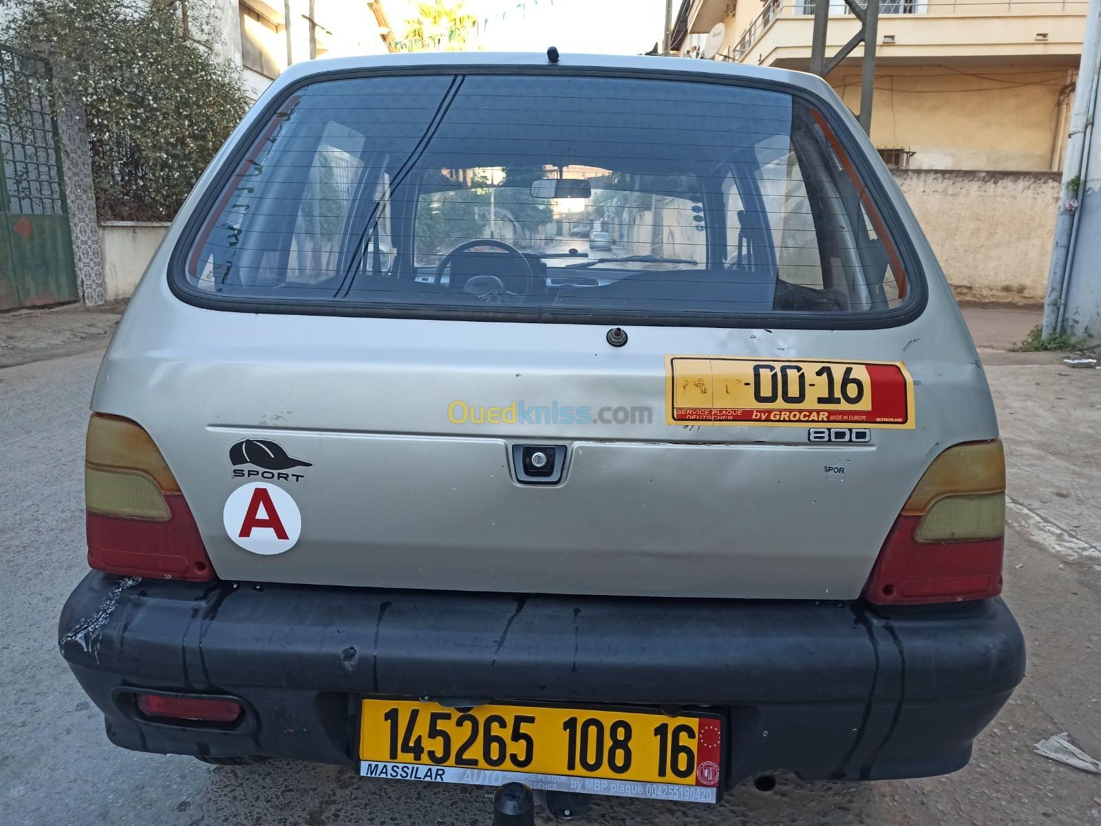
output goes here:
[{"label": "bright pale sky above the car roof, around the palm", "polygon": [[[673,3],[673,13],[679,8]],[[415,0],[385,3],[394,29]],[[468,42],[487,52],[559,52],[636,55],[662,37],[665,0],[466,0],[464,10],[488,25]]]}]

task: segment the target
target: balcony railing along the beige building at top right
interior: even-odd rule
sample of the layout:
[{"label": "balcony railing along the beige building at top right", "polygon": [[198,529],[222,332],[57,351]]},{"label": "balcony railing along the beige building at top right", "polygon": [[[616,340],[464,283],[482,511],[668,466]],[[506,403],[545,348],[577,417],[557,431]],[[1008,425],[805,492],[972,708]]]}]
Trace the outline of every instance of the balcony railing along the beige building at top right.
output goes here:
[{"label": "balcony railing along the beige building at top right", "polygon": [[[860,3],[861,5],[863,3]],[[1087,0],[881,0],[880,16],[887,14],[1084,14]],[[830,16],[851,16],[842,0],[831,0]],[[778,18],[813,18],[815,0],[771,0],[761,13],[742,32],[734,47],[727,54],[716,55],[723,60],[741,63],[754,44]]]}]

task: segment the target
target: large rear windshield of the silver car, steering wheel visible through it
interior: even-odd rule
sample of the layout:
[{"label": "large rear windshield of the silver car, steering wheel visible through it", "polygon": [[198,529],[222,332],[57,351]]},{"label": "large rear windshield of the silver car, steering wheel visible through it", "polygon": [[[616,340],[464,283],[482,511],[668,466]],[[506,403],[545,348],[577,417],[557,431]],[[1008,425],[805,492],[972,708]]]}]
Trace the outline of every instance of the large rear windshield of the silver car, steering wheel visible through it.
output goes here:
[{"label": "large rear windshield of the silver car, steering wheel visible through it", "polygon": [[713,323],[869,317],[913,291],[828,121],[774,89],[315,81],[282,101],[209,202],[181,275],[211,299]]}]

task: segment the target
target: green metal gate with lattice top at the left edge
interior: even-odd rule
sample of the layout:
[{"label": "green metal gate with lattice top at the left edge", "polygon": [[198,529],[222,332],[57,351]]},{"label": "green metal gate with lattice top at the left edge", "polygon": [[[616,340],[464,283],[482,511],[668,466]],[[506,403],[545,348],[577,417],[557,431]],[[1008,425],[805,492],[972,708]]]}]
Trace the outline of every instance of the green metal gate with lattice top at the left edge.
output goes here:
[{"label": "green metal gate with lattice top at the left edge", "polygon": [[50,64],[0,44],[0,310],[75,301]]}]

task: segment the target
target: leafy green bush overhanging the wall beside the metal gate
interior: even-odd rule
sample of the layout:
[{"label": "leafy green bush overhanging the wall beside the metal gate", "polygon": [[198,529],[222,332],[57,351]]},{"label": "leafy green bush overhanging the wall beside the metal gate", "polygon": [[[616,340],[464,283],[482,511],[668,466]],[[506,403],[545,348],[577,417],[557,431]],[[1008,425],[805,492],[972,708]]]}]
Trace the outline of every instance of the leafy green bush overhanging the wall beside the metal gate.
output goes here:
[{"label": "leafy green bush overhanging the wall beside the metal gate", "polygon": [[[0,40],[50,59],[87,118],[100,220],[170,220],[249,107],[173,0],[0,0]],[[217,21],[215,21],[215,24]]]}]

